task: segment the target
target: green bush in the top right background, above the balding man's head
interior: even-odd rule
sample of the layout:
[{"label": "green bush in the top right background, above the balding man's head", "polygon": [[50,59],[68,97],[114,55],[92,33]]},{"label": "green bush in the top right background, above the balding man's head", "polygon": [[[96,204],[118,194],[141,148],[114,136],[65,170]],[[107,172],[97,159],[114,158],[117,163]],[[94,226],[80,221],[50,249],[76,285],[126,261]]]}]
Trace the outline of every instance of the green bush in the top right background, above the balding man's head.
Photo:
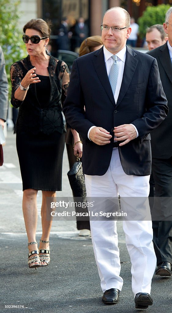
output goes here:
[{"label": "green bush in the top right background, above the balding man's head", "polygon": [[169,8],[169,4],[159,4],[156,7],[148,6],[146,8],[143,15],[138,19],[139,35],[141,38],[145,37],[147,27],[165,22],[165,13]]}]

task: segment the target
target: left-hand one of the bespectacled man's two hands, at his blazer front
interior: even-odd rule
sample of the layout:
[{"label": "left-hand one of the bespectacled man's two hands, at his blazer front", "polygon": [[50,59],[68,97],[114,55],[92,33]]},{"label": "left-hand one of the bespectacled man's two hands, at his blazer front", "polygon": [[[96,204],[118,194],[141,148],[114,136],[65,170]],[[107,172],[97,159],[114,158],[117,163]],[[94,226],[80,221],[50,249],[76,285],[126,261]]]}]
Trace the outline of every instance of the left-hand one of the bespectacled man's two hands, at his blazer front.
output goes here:
[{"label": "left-hand one of the bespectacled man's two hands, at his blazer front", "polygon": [[109,131],[106,131],[102,127],[93,127],[89,133],[89,138],[97,145],[104,146],[110,143],[112,136]]}]

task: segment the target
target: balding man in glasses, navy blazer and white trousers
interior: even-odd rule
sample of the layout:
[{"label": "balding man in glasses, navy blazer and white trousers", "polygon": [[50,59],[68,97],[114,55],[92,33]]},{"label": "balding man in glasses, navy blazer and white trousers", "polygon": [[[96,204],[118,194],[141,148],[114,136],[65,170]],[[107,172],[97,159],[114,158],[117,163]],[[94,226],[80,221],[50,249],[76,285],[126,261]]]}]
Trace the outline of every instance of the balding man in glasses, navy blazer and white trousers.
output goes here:
[{"label": "balding man in glasses, navy blazer and white trousers", "polygon": [[[126,46],[129,25],[129,13],[123,8],[106,11],[101,25],[104,47],[74,61],[63,112],[83,138],[87,197],[98,197],[93,212],[109,212],[104,200],[119,194],[121,210],[136,216],[124,221],[123,229],[135,307],[147,308],[152,305],[156,266],[152,222],[145,214],[151,172],[149,133],[164,120],[168,107],[156,59]],[[102,300],[116,304],[123,285],[116,221],[90,218],[90,226]]]}]

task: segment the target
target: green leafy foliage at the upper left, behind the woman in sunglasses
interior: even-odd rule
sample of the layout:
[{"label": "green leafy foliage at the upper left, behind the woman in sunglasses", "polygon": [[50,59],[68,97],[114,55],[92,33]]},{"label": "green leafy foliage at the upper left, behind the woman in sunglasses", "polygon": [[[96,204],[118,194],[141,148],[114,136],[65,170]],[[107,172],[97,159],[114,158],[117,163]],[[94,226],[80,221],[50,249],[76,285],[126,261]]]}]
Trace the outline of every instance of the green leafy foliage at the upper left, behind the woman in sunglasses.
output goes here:
[{"label": "green leafy foliage at the upper left, behind the woman in sunglasses", "polygon": [[0,45],[5,57],[9,91],[11,90],[10,66],[27,55],[22,33],[18,29],[19,4],[20,1],[0,0]]}]

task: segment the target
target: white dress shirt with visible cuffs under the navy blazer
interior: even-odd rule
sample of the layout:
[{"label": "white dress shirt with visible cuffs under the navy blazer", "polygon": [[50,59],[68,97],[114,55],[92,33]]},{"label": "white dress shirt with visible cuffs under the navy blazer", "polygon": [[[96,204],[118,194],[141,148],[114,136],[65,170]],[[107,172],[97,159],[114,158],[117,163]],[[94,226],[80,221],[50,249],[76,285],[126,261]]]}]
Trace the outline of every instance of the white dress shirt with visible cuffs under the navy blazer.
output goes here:
[{"label": "white dress shirt with visible cuffs under the navy blazer", "polygon": [[[107,50],[105,48],[105,46],[103,46],[103,52],[104,52],[105,66],[106,66],[107,74],[109,76],[111,66],[114,62],[113,59],[111,58],[111,56],[114,54],[112,54],[109,50]],[[114,94],[114,100],[115,100],[115,103],[117,103],[119,91],[120,91],[121,83],[122,83],[122,79],[123,79],[123,73],[124,73],[124,65],[125,65],[125,58],[126,58],[126,46],[121,51],[116,53],[115,55],[117,56],[117,60],[118,60],[118,79],[117,79],[116,90],[115,90],[115,94]],[[137,128],[133,124],[130,124],[130,125],[132,125],[134,127],[134,129],[137,133],[137,137],[138,137],[139,133],[138,133]],[[93,127],[96,127],[96,126],[90,127],[90,129],[88,131],[88,138],[89,138],[89,133]]]}]

